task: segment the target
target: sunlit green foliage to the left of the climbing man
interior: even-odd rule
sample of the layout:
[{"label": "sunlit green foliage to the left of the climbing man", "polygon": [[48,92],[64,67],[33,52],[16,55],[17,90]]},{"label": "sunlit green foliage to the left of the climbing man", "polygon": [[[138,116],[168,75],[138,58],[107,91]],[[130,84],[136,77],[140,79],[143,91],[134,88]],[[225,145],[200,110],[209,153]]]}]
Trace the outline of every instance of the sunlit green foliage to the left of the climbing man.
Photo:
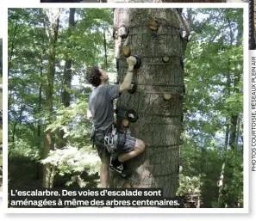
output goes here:
[{"label": "sunlit green foliage to the left of the climbing man", "polygon": [[[91,162],[95,150],[91,150],[90,121],[85,118],[91,89],[84,87],[85,71],[95,64],[106,71],[114,70],[113,12],[76,9],[76,24],[68,30],[69,9],[61,9],[51,122],[47,122],[50,113],[46,108],[49,41],[44,16],[42,9],[9,9],[9,160],[23,157],[41,162],[45,132],[50,129],[55,148],[61,149],[53,150],[43,162],[53,163],[61,175],[72,174],[69,185],[79,181],[80,187],[84,187],[86,181],[80,175],[84,172],[91,176],[99,171],[98,160]],[[103,33],[108,48],[107,63]],[[66,59],[72,59],[72,89],[63,84]],[[64,89],[72,97],[70,107],[63,107]],[[79,163],[66,164],[72,160]]]}]

